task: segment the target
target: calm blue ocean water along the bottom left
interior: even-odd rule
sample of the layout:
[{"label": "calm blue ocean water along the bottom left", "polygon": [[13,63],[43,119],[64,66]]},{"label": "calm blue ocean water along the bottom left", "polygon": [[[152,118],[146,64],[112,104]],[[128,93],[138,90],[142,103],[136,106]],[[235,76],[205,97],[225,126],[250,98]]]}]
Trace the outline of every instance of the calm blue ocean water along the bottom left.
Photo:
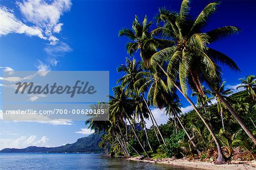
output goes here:
[{"label": "calm blue ocean water along the bottom left", "polygon": [[191,169],[134,162],[98,154],[0,153],[0,169]]}]

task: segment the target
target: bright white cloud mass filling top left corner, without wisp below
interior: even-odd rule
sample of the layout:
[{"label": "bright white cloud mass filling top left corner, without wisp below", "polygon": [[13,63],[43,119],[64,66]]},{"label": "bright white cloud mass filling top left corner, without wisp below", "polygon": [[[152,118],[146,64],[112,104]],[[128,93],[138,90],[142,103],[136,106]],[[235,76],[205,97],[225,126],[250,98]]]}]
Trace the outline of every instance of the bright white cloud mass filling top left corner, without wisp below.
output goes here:
[{"label": "bright white cloud mass filling top left corner, without wisp below", "polygon": [[28,36],[38,36],[55,45],[59,39],[53,35],[60,33],[63,23],[59,23],[60,16],[71,8],[70,0],[27,0],[17,2],[19,10],[28,26],[16,18],[14,10],[0,6],[0,36],[9,33],[24,33]]}]

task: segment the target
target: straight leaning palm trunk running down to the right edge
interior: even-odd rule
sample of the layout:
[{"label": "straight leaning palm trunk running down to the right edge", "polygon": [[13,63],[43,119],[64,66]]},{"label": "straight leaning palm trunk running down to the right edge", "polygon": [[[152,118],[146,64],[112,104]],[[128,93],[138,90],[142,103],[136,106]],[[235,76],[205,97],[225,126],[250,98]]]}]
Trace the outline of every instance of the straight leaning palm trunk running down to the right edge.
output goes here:
[{"label": "straight leaning palm trunk running down to the right edge", "polygon": [[238,116],[238,114],[234,111],[234,109],[232,108],[232,106],[228,103],[228,101],[226,101],[224,99],[224,97],[220,94],[220,92],[214,90],[214,92],[216,92],[218,98],[222,101],[222,103],[225,104],[226,108],[229,109],[229,112],[234,116],[234,118],[236,118],[238,124],[240,124],[240,126],[242,127],[243,130],[245,130],[245,133],[251,138],[251,141],[253,141],[253,143],[256,145],[256,138],[254,137],[254,135],[250,132],[250,130],[247,128],[247,126],[243,123],[242,119],[240,118],[240,116]]}]

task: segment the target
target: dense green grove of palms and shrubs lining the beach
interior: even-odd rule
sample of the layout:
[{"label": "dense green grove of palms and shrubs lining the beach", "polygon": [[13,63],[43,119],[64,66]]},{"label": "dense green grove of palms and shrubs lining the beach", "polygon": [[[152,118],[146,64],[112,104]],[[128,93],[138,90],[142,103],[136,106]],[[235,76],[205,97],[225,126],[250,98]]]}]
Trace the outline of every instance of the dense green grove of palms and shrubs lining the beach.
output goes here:
[{"label": "dense green grove of palms and shrubs lining the beach", "polygon": [[[189,0],[180,11],[159,8],[155,22],[135,16],[132,29],[119,36],[129,38],[129,57],[119,65],[122,73],[109,100],[109,121],[86,121],[96,133],[104,131],[99,143],[107,154],[147,158],[200,158],[216,164],[235,159],[255,159],[256,78],[241,80],[243,91],[225,87],[222,66],[240,71],[224,53],[210,44],[238,34],[225,26],[205,31],[220,2],[207,5],[196,18],[190,15]],[[220,42],[221,43],[221,42]],[[135,59],[136,55],[140,56]],[[197,99],[196,102],[194,99]],[[183,113],[182,100],[193,111]],[[159,125],[153,110],[168,116]],[[146,126],[146,120],[152,126]]]}]

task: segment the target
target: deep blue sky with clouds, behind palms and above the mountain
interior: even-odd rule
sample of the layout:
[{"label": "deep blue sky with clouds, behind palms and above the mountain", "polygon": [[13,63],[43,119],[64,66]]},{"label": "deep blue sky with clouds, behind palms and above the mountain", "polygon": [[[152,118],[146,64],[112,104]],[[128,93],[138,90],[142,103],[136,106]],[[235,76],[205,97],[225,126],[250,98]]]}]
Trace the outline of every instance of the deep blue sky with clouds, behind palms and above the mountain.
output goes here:
[{"label": "deep blue sky with clouds, behind palms and above the mountain", "polygon": [[[209,2],[212,1],[192,1],[192,16],[199,14]],[[152,20],[158,7],[178,10],[180,3],[180,0],[0,0],[1,72],[12,69],[106,70],[110,71],[110,87],[113,87],[121,76],[116,73],[116,67],[125,62],[127,57],[127,39],[118,37],[118,31],[130,28],[135,14],[141,19],[147,15]],[[234,73],[224,67],[223,78],[229,87],[236,86],[238,78],[256,74],[255,6],[253,0],[226,0],[205,29],[208,31],[224,25],[242,29],[239,35],[211,45],[233,58],[241,69],[241,73]],[[184,111],[189,109],[187,106],[183,102]],[[154,113],[159,122],[167,119],[158,109]],[[86,129],[81,131],[81,128],[85,128],[82,121],[43,124],[0,120],[0,149],[7,146],[59,146],[75,142],[77,138],[90,133]]]}]

